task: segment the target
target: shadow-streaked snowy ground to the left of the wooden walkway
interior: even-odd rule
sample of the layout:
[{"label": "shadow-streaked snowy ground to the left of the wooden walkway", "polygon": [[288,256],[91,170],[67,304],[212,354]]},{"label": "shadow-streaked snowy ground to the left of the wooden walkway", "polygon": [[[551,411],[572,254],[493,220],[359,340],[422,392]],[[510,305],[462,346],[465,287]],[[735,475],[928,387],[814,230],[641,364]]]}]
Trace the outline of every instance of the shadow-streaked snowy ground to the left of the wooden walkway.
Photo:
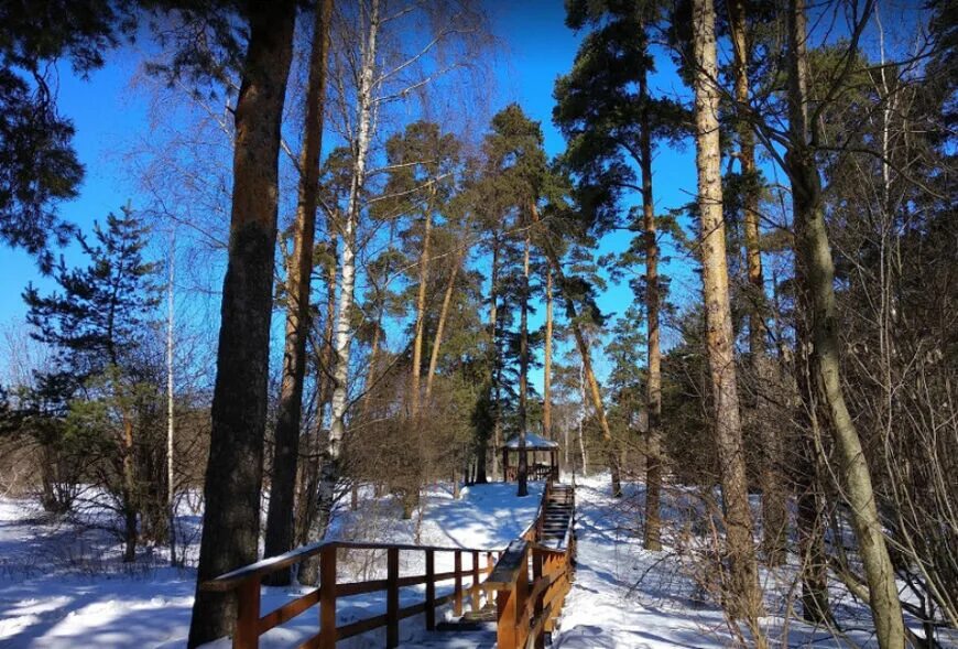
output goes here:
[{"label": "shadow-streaked snowy ground to the left of the wooden walkway", "polygon": [[[504,548],[532,521],[542,485],[515,497],[514,485],[485,485],[462,490],[454,500],[446,487],[424,497],[422,519],[401,520],[391,498],[369,495],[356,512],[344,512],[331,530],[342,539],[460,548]],[[179,523],[192,529],[196,515]],[[491,523],[491,524],[490,524]],[[194,539],[196,540],[196,539]],[[188,552],[188,556],[195,552]],[[120,561],[121,548],[101,530],[56,522],[33,500],[0,499],[0,647],[67,649],[75,647],[183,647],[189,628],[195,571],[164,565],[165,553],[144,551],[133,565]],[[381,556],[340,556],[340,580],[381,571]],[[401,553],[401,574],[422,574],[421,552]],[[485,562],[485,558],[483,558]],[[436,570],[451,570],[453,554],[436,556]],[[264,588],[263,610],[304,593],[298,587]],[[438,594],[445,589],[439,588]],[[401,605],[422,601],[420,588],[403,588]],[[340,624],[384,610],[381,596],[340,601]],[[315,634],[318,615],[307,610],[263,638],[263,647],[294,647]],[[402,639],[414,641],[421,619],[405,620]],[[372,636],[341,646],[382,646]],[[215,646],[228,647],[228,641]]]}]

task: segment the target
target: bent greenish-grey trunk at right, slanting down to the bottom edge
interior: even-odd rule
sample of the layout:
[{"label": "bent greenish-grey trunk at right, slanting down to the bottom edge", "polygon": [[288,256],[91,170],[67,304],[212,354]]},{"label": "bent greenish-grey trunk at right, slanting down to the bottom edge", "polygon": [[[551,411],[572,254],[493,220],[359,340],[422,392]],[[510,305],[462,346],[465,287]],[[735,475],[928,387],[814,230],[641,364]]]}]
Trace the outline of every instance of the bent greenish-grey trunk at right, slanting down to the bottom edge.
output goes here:
[{"label": "bent greenish-grey trunk at right, slanting down to the bottom edge", "polygon": [[871,474],[841,388],[838,321],[835,313],[835,263],[825,225],[821,180],[809,138],[804,0],[791,0],[788,12],[791,148],[786,165],[792,181],[796,259],[802,296],[810,318],[812,372],[827,409],[840,457],[840,475],[869,587],[869,606],[879,646],[905,645],[902,606],[875,506]]}]

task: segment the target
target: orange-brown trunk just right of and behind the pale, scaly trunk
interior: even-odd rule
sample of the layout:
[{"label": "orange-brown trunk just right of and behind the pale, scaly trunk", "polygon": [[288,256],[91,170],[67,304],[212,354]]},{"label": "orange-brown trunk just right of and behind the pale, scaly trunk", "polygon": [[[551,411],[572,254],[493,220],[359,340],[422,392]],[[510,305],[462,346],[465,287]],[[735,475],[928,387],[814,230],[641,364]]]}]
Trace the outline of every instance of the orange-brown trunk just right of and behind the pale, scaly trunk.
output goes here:
[{"label": "orange-brown trunk just right of and behind the pale, scaly trunk", "polygon": [[[749,105],[749,63],[751,50],[745,23],[745,1],[728,2],[729,26],[734,51],[736,102],[742,116]],[[752,365],[755,404],[753,424],[762,444],[762,530],[765,561],[782,565],[785,561],[788,511],[785,506],[784,476],[781,472],[782,444],[771,421],[771,409],[764,391],[772,382],[770,358],[765,353],[768,326],[765,323],[765,280],[762,273],[762,252],[759,247],[759,177],[755,170],[755,138],[752,126],[744,117],[736,122],[739,136],[739,164],[745,182],[743,224],[745,259],[749,273],[749,356]]]}]

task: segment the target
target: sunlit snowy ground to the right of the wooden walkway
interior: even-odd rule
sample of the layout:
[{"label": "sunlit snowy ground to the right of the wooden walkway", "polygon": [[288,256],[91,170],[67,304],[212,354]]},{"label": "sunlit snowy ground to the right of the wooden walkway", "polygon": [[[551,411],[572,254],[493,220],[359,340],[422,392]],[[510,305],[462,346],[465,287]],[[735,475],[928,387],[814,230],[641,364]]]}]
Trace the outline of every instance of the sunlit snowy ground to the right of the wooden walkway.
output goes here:
[{"label": "sunlit snowy ground to the right of the wooden walkway", "polygon": [[[681,509],[695,507],[683,490],[663,495],[665,550],[642,549],[640,521],[644,487],[625,486],[625,496],[609,496],[609,476],[579,478],[576,487],[578,564],[554,647],[560,649],[719,648],[736,645],[721,609],[707,602],[694,558],[704,542],[694,524],[675,524]],[[758,501],[755,502],[758,510]],[[692,528],[692,529],[689,529]],[[698,545],[697,545],[698,543]],[[768,617],[761,625],[773,647],[877,647],[868,608],[838,584],[830,596],[840,629],[813,628],[801,621],[795,602],[795,558],[776,571],[762,571]],[[699,578],[694,575],[698,574]],[[913,625],[918,630],[918,625]],[[950,643],[949,643],[950,642]],[[945,639],[958,647],[958,634]]]}]

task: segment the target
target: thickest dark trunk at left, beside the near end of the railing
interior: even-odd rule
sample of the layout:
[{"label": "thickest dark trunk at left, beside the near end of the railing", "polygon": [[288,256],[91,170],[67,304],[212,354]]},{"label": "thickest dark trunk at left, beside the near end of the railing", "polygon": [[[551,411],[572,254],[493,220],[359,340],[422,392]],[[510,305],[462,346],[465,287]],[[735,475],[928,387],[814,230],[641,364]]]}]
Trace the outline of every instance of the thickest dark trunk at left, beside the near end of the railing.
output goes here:
[{"label": "thickest dark trunk at left, beside the near end of the railing", "polygon": [[295,4],[251,6],[248,20],[249,45],[235,112],[229,257],[190,647],[232,632],[236,594],[202,591],[198,585],[253,563],[260,537],[280,125]]}]

